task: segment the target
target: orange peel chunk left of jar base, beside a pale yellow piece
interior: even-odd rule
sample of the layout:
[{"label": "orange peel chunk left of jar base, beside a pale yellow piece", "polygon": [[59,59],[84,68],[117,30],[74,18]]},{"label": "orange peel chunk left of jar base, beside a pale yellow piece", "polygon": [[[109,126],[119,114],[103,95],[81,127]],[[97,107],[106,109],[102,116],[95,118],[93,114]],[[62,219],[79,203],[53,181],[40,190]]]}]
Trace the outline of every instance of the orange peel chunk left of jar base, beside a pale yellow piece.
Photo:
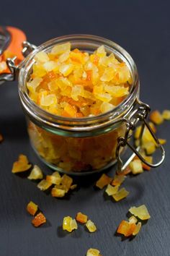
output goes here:
[{"label": "orange peel chunk left of jar base, beside a pale yellow piece", "polygon": [[27,171],[31,166],[26,155],[19,155],[18,161],[13,163],[12,173],[16,174],[18,172]]}]

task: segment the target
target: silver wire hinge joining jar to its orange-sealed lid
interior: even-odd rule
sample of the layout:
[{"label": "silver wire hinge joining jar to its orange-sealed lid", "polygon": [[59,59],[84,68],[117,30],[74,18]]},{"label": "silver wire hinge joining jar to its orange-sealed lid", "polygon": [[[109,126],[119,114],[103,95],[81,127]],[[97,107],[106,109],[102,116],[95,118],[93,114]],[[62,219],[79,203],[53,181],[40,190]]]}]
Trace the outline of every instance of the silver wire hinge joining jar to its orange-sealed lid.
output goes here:
[{"label": "silver wire hinge joining jar to its orange-sealed lid", "polygon": [[[34,46],[33,44],[24,41],[22,43],[22,55],[24,57],[27,57],[27,55],[29,55],[33,50],[35,50],[36,46]],[[15,64],[15,60],[17,59],[17,56],[14,56],[14,58],[10,59],[8,58],[6,60],[6,64],[10,70],[10,73],[1,73],[0,74],[0,84],[1,82],[4,81],[14,81],[16,79],[17,73],[19,72],[19,67],[22,64],[22,62],[19,65]]]}]

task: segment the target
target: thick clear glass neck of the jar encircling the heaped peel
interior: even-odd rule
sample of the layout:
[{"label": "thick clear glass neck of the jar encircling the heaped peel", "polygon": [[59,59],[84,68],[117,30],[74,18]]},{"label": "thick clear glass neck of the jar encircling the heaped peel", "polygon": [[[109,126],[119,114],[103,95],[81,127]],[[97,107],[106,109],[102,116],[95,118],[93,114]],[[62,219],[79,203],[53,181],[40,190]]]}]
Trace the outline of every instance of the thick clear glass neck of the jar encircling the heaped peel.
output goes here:
[{"label": "thick clear glass neck of the jar encircling the heaped peel", "polygon": [[[37,54],[38,51],[50,51],[50,49],[57,43],[65,43],[66,41],[70,41],[73,48],[79,48],[82,51],[89,52],[95,51],[103,44],[107,54],[113,53],[117,59],[125,61],[130,69],[133,82],[129,95],[124,101],[122,101],[122,103],[120,103],[120,105],[107,113],[78,119],[55,116],[43,110],[30,100],[27,93],[27,80],[30,77],[32,65],[35,62],[35,54]],[[68,35],[50,40],[32,51],[32,53],[24,59],[19,70],[19,97],[25,114],[38,126],[55,134],[65,136],[86,137],[94,134],[98,135],[115,129],[120,125],[120,121],[128,116],[130,110],[135,106],[138,93],[138,71],[131,56],[116,43],[94,35]]]}]

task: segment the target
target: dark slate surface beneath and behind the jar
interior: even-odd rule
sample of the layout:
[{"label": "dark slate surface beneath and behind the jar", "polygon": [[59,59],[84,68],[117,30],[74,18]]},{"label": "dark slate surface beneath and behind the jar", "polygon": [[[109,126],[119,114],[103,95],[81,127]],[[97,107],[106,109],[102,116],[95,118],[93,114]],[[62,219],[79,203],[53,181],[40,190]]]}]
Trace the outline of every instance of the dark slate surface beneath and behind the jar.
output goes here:
[{"label": "dark slate surface beneath and behind the jar", "polygon": [[[0,22],[14,25],[27,33],[36,45],[59,35],[89,33],[115,42],[133,56],[140,74],[140,95],[153,109],[169,104],[169,1],[1,1]],[[19,153],[28,155],[45,173],[50,171],[32,152],[24,114],[19,105],[17,82],[0,88],[0,255],[1,256],[84,256],[89,247],[113,255],[170,255],[170,175],[169,127],[165,122],[159,137],[165,137],[166,161],[140,176],[128,178],[127,199],[114,203],[94,189],[91,177],[83,178],[78,191],[63,200],[40,192],[34,182],[11,174]],[[109,171],[113,174],[115,167]],[[94,177],[95,179],[95,177]],[[48,223],[32,227],[25,211],[29,200],[40,205]],[[140,234],[129,241],[115,236],[117,225],[125,219],[131,205],[145,203],[151,219]],[[98,227],[94,234],[83,226],[72,234],[63,233],[63,216],[86,213]]]}]

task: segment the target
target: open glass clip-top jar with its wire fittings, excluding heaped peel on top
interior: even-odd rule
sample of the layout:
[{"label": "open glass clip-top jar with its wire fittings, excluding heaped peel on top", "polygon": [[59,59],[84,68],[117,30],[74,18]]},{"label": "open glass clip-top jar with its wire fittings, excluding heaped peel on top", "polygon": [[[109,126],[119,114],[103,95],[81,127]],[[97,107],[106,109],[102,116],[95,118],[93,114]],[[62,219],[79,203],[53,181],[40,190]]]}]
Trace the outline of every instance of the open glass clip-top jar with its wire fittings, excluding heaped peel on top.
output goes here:
[{"label": "open glass clip-top jar with its wire fittings, excluding heaped peel on top", "polygon": [[[71,42],[72,48],[79,48],[89,53],[104,45],[107,54],[113,53],[119,61],[127,64],[132,84],[129,95],[120,105],[98,116],[68,118],[50,114],[30,100],[27,81],[35,63],[35,54],[38,51],[49,52],[56,44],[68,41]],[[30,142],[41,160],[50,168],[69,174],[91,174],[102,171],[117,160],[119,168],[123,169],[120,153],[125,145],[129,145],[128,137],[131,130],[138,121],[144,120],[143,125],[148,126],[145,119],[149,108],[138,100],[138,71],[131,56],[116,43],[94,35],[67,35],[49,40],[37,48],[30,43],[24,46],[26,46],[23,51],[24,56],[27,54],[28,56],[14,70],[15,74],[19,71],[19,97],[27,116]],[[151,133],[153,135],[153,132]],[[155,140],[158,142],[156,138]],[[158,146],[164,150],[159,143]],[[133,147],[131,149],[145,161],[138,153],[138,149],[135,150]],[[156,165],[150,163],[148,165],[155,167],[162,161]]]}]

